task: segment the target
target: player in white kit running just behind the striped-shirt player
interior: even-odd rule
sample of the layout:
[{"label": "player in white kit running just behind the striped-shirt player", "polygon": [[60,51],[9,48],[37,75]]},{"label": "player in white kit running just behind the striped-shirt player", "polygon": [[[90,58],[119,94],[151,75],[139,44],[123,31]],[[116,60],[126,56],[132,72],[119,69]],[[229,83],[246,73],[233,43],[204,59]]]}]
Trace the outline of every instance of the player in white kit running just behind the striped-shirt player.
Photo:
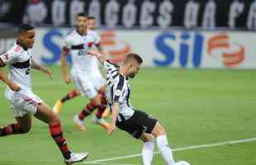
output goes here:
[{"label": "player in white kit running just behind the striped-shirt player", "polygon": [[[64,101],[78,96],[80,93],[88,97],[90,100],[87,106],[83,108],[73,120],[78,130],[86,131],[83,120],[97,109],[97,114],[93,116],[93,123],[102,125],[107,129],[107,122],[102,115],[107,107],[105,98],[106,83],[102,78],[102,74],[97,66],[97,58],[86,55],[92,47],[100,48],[100,36],[96,31],[88,30],[88,17],[82,12],[76,17],[77,27],[66,35],[64,38],[64,46],[61,54],[61,68],[66,83],[71,82],[71,78],[77,89],[69,92],[65,97],[56,101],[54,111],[59,114]],[[95,27],[90,26],[91,29]],[[72,67],[70,75],[66,71],[66,56],[70,54],[72,59]]]}]

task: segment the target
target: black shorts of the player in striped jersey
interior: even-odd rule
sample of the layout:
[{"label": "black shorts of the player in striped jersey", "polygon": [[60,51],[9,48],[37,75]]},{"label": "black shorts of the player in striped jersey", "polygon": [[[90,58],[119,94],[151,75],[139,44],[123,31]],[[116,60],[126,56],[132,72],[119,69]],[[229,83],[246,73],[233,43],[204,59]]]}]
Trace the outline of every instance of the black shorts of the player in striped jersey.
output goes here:
[{"label": "black shorts of the player in striped jersey", "polygon": [[135,111],[128,120],[116,121],[116,126],[120,130],[124,130],[136,139],[139,139],[142,133],[151,134],[158,120],[152,118],[151,115],[143,111]]}]

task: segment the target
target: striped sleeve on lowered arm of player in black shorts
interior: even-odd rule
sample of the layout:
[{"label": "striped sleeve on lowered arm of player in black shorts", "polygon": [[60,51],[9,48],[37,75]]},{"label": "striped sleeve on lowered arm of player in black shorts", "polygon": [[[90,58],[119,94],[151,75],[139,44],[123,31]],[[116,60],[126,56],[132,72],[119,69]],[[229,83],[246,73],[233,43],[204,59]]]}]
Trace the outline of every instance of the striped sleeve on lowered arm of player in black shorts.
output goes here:
[{"label": "striped sleeve on lowered arm of player in black shorts", "polygon": [[123,97],[125,94],[125,83],[125,77],[120,75],[118,82],[116,82],[113,87],[113,102],[121,103],[124,100]]}]

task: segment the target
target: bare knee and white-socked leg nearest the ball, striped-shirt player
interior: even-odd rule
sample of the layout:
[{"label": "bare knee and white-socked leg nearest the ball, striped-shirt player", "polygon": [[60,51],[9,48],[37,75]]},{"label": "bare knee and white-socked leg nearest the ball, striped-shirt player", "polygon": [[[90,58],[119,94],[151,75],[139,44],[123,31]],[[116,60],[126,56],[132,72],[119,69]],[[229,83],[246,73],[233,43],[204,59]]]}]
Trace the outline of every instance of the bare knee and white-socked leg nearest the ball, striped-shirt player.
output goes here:
[{"label": "bare knee and white-socked leg nearest the ball, striped-shirt player", "polygon": [[168,145],[168,139],[164,127],[160,125],[159,122],[157,122],[154,125],[154,128],[151,133],[154,135],[154,137],[156,137],[156,143],[159,148],[159,152],[163,156],[165,162],[168,165],[175,165],[172,149]]}]

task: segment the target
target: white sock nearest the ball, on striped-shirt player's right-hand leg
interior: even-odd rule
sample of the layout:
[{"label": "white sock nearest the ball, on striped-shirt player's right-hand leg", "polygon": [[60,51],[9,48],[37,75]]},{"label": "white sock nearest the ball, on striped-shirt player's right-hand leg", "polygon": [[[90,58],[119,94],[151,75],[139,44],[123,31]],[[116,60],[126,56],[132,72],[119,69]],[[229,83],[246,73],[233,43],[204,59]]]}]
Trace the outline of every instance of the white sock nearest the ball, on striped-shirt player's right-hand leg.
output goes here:
[{"label": "white sock nearest the ball, on striped-shirt player's right-hand leg", "polygon": [[175,165],[172,149],[168,146],[166,134],[158,136],[156,142],[158,144],[159,152],[163,156],[165,162],[168,165]]}]

